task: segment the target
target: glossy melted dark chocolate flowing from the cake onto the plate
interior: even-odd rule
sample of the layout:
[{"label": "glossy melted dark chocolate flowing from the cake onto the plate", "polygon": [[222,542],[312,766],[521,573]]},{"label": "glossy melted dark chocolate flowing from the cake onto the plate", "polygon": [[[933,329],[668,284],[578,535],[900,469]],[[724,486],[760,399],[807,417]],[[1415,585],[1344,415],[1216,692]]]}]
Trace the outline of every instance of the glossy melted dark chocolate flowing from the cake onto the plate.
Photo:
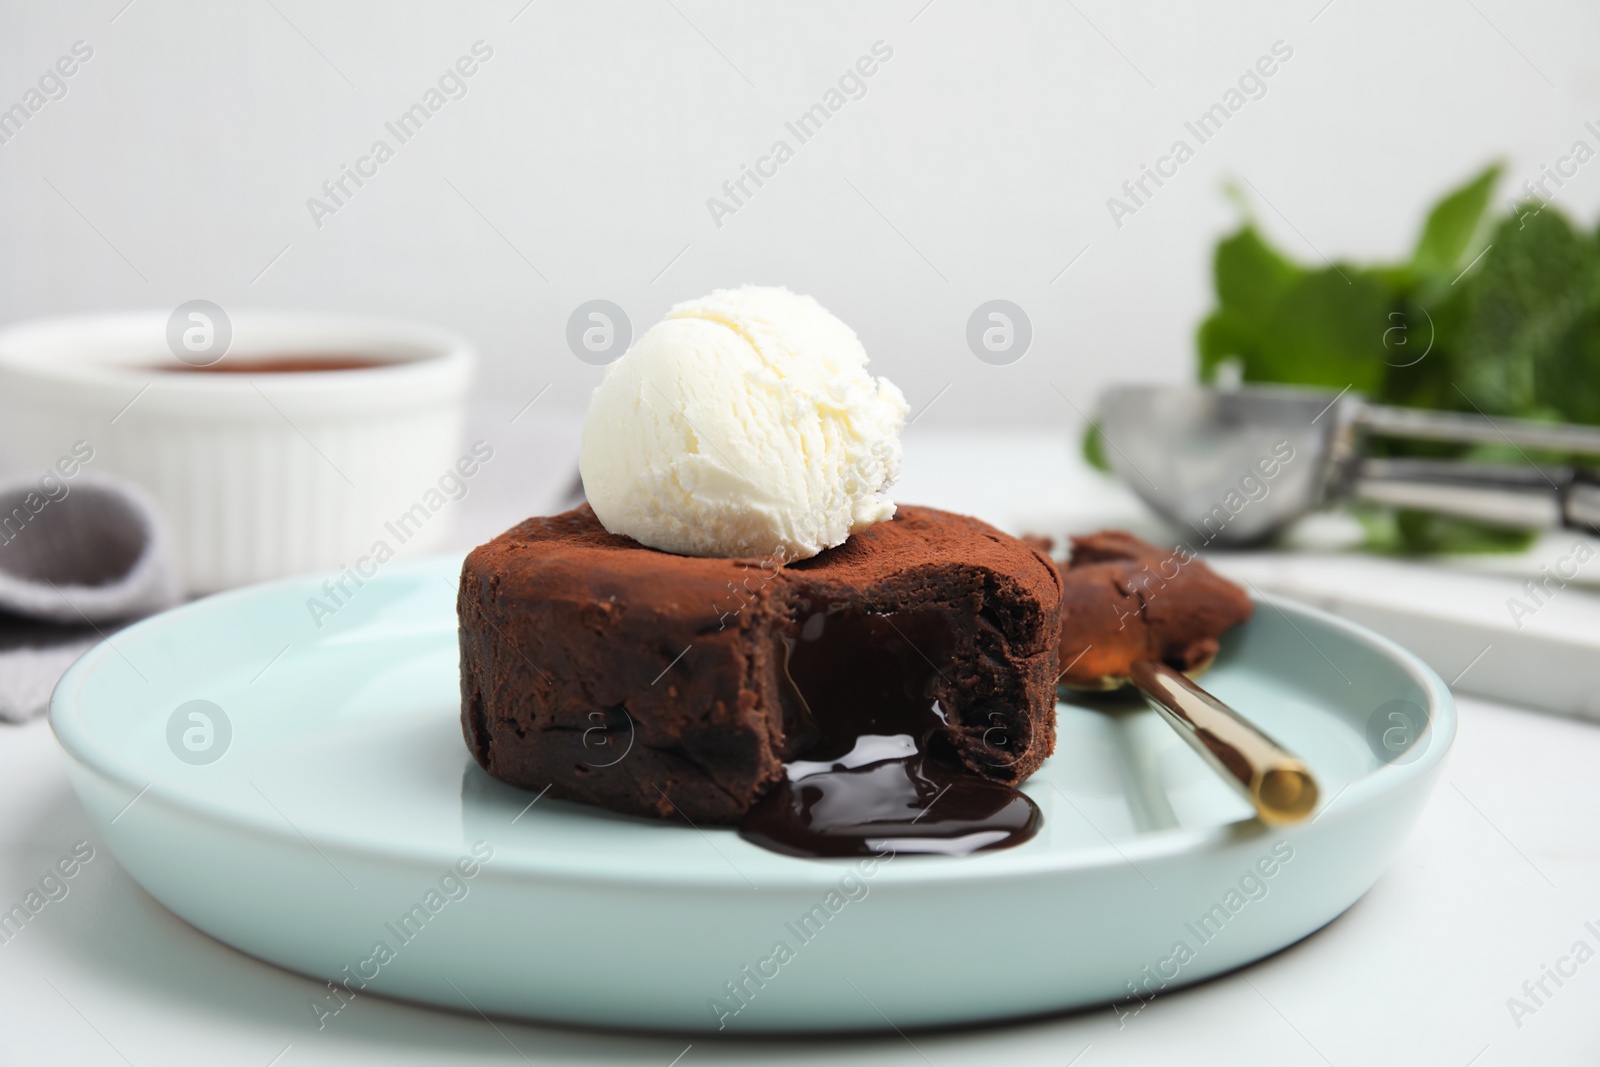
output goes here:
[{"label": "glossy melted dark chocolate flowing from the cake onto the plate", "polygon": [[941,744],[936,683],[955,646],[942,616],[822,609],[784,645],[795,750],[744,838],[790,856],[965,856],[1038,832],[1032,800]]}]

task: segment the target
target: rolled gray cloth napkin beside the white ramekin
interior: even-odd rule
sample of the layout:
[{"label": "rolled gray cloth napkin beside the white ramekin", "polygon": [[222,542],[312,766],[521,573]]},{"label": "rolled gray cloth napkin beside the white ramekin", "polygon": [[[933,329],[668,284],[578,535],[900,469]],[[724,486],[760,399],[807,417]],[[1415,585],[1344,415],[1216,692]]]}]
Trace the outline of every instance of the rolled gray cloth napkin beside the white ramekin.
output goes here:
[{"label": "rolled gray cloth napkin beside the white ramekin", "polygon": [[125,482],[0,480],[0,720],[50,705],[61,673],[179,600],[155,506]]}]

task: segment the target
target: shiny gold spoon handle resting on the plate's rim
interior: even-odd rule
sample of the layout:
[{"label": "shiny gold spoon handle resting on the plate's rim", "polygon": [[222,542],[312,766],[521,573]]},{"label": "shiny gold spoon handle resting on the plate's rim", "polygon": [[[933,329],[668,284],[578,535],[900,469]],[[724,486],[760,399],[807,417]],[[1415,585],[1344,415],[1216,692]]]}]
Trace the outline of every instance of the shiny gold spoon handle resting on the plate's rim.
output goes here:
[{"label": "shiny gold spoon handle resting on the plate's rim", "polygon": [[1317,808],[1317,779],[1278,742],[1166,664],[1141,659],[1133,685],[1162,718],[1216,768],[1262,822],[1301,822]]}]

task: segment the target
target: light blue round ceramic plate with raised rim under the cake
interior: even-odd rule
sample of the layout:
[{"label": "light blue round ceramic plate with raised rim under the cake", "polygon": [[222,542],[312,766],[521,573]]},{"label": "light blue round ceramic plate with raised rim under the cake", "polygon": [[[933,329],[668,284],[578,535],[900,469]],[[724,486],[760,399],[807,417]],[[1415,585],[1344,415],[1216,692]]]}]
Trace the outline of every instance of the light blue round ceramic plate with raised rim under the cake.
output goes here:
[{"label": "light blue round ceramic plate with raised rim under the cake", "polygon": [[373,993],[730,1032],[1149,998],[1347,909],[1456,733],[1411,654],[1266,600],[1205,685],[1306,758],[1326,798],[1315,821],[1261,825],[1149,712],[1062,704],[1056,755],[1026,785],[1035,840],[803,861],[485,777],[458,725],[458,569],[347,584],[320,629],[320,577],[202,600],[94,648],[51,705],[117,859],[208,934],[339,982],[307,1003],[323,1022]]}]

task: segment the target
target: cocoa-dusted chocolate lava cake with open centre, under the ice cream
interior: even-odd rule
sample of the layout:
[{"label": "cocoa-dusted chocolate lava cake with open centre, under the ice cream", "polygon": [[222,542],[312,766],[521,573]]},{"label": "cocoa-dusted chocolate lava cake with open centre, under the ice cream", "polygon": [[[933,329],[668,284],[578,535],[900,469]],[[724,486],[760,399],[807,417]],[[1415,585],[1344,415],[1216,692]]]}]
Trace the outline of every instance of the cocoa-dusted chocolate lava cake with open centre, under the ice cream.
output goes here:
[{"label": "cocoa-dusted chocolate lava cake with open centre, under the ice cream", "polygon": [[467,557],[461,723],[504,782],[701,825],[861,734],[1008,787],[1054,747],[1059,605],[1037,547],[926,507],[778,566],[646,549],[582,506]]}]

